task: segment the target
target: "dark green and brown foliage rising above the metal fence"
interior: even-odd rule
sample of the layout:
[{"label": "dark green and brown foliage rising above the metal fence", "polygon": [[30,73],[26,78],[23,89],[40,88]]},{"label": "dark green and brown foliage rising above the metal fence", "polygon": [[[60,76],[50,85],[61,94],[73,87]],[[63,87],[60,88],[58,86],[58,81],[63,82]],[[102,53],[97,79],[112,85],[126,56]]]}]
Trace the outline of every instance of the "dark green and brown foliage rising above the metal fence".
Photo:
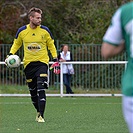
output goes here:
[{"label": "dark green and brown foliage rising above the metal fence", "polygon": [[[42,24],[50,28],[60,43],[101,43],[114,11],[130,0],[14,0],[0,2],[1,43],[12,43],[17,29],[28,23],[20,17],[24,9],[36,6],[43,10]],[[10,36],[8,36],[10,35]],[[8,36],[8,39],[6,38]]]}]

